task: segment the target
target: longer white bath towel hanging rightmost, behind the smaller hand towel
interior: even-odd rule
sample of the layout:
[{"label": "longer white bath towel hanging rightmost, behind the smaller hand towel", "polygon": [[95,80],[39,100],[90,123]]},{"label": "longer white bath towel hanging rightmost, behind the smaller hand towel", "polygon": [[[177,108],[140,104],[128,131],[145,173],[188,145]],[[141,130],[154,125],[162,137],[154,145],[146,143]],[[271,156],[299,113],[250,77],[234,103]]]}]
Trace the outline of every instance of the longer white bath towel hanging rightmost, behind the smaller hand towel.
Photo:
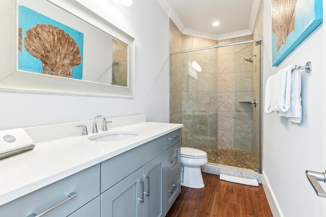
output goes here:
[{"label": "longer white bath towel hanging rightmost, behind the smaller hand towel", "polygon": [[299,70],[292,71],[290,108],[286,112],[278,112],[280,116],[289,117],[292,122],[301,123],[301,73]]}]

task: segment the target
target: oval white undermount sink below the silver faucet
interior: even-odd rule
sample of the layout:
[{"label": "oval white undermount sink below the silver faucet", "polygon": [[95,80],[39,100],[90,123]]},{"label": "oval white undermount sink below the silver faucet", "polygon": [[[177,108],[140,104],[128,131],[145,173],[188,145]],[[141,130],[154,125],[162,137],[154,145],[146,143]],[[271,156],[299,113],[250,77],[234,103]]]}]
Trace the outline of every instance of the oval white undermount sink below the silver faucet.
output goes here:
[{"label": "oval white undermount sink below the silver faucet", "polygon": [[110,141],[130,139],[138,135],[139,133],[134,131],[106,132],[106,133],[99,133],[97,135],[90,136],[88,139],[95,142],[110,142]]}]

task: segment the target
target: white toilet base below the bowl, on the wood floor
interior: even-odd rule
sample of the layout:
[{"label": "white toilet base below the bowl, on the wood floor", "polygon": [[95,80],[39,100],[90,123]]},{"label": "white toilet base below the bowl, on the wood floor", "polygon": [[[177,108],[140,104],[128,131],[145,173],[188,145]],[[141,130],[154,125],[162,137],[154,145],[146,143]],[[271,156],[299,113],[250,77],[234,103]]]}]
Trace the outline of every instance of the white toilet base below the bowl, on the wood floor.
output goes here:
[{"label": "white toilet base below the bowl, on the wood floor", "polygon": [[204,188],[205,184],[200,167],[194,168],[183,166],[183,171],[181,173],[182,186],[194,189]]}]

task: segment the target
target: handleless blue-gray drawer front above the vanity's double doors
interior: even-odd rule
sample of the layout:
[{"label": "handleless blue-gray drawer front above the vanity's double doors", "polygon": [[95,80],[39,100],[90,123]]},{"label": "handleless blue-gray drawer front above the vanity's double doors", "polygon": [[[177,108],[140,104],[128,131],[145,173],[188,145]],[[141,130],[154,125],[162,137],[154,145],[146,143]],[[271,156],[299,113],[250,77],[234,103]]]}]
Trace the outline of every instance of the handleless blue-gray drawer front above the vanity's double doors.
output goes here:
[{"label": "handleless blue-gray drawer front above the vanity's double doors", "polygon": [[165,151],[161,136],[101,163],[101,193]]}]

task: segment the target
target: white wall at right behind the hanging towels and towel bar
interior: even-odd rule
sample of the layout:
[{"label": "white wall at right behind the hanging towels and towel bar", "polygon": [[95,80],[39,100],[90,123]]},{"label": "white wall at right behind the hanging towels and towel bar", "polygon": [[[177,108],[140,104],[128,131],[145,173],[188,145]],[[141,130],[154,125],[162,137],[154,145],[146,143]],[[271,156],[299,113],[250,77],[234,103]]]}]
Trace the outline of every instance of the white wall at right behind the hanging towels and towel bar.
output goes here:
[{"label": "white wall at right behind the hanging towels and towel bar", "polygon": [[[263,174],[281,216],[324,216],[323,200],[317,197],[305,171],[323,168],[322,79],[323,25],[290,53],[278,67],[271,67],[271,2],[264,1],[263,85],[271,74],[290,64],[312,62],[312,72],[302,74],[301,124],[276,113],[263,115]],[[273,208],[273,206],[272,206]],[[275,216],[278,216],[275,213]]]}]

